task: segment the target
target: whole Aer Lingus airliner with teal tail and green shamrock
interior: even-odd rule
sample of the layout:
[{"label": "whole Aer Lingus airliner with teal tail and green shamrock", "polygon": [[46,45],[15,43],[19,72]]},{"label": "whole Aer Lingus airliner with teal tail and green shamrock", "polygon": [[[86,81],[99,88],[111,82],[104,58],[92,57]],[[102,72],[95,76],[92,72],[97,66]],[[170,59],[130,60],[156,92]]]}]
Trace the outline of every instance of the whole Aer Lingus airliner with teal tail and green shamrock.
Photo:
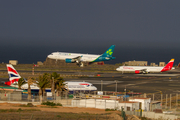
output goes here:
[{"label": "whole Aer Lingus airliner with teal tail and green shamrock", "polygon": [[77,63],[80,67],[83,67],[83,62],[93,63],[115,59],[115,57],[112,57],[114,48],[115,45],[111,45],[109,49],[107,49],[107,51],[102,55],[53,52],[48,55],[48,58],[55,60],[65,60],[66,63]]}]

